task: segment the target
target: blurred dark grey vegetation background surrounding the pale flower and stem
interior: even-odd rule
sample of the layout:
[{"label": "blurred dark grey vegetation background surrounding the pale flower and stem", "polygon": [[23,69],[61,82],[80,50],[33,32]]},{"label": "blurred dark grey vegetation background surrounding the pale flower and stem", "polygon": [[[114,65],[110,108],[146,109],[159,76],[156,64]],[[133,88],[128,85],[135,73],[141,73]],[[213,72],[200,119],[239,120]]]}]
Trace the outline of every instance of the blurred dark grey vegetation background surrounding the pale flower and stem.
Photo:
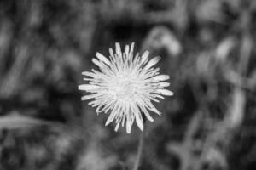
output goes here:
[{"label": "blurred dark grey vegetation background surrounding the pale flower and stem", "polygon": [[1,0],[0,169],[131,169],[141,132],[104,127],[78,90],[115,42],[160,55],[175,94],[139,169],[256,169],[255,23],[250,0]]}]

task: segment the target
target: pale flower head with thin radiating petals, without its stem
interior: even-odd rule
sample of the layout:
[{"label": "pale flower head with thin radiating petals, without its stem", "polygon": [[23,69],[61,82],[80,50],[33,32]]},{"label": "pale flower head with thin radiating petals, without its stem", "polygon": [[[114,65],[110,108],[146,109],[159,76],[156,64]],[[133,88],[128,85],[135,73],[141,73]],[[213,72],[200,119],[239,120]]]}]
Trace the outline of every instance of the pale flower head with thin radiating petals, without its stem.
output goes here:
[{"label": "pale flower head with thin radiating petals, without its stem", "polygon": [[[135,121],[143,131],[143,114],[148,121],[153,122],[148,111],[160,115],[152,101],[159,102],[163,95],[172,96],[172,91],[165,89],[170,85],[164,82],[168,75],[160,75],[160,68],[153,66],[158,63],[160,57],[148,59],[148,51],[142,56],[133,55],[134,42],[125,46],[122,52],[120,44],[115,44],[115,53],[109,48],[110,57],[96,53],[92,62],[100,71],[92,69],[84,71],[86,84],[79,85],[79,90],[84,90],[87,95],[82,100],[89,100],[88,105],[96,107],[96,113],[108,113],[105,126],[115,121],[115,131],[126,125],[126,132],[131,133],[131,126]],[[126,124],[125,124],[126,123]]]}]

